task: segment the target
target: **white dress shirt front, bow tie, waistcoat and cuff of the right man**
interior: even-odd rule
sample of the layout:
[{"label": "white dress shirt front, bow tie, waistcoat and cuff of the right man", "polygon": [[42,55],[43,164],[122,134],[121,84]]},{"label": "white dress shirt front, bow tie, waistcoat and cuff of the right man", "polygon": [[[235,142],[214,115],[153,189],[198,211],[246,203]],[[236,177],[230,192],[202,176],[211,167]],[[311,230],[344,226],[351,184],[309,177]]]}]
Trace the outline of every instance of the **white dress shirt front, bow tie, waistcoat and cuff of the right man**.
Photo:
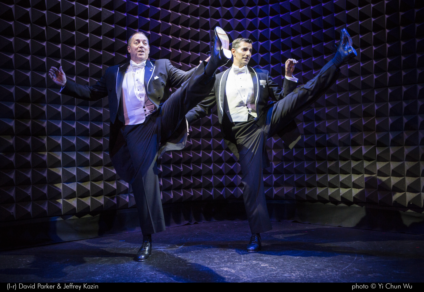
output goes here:
[{"label": "white dress shirt front, bow tie, waistcoat and cuff of the right man", "polygon": [[[295,77],[286,76],[285,78],[294,82],[298,81]],[[225,85],[225,94],[224,110],[230,121],[247,121],[249,114],[257,117],[253,80],[247,66],[239,68],[232,65]]]}]

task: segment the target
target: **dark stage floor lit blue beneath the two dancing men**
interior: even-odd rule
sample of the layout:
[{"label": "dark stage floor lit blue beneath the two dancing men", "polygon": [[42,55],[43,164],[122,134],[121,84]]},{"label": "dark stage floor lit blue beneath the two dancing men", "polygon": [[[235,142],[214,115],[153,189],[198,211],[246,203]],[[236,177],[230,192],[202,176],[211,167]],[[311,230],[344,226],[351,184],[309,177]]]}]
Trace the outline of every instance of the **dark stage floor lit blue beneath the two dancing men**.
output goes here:
[{"label": "dark stage floor lit blue beneath the two dancing men", "polygon": [[168,228],[134,261],[140,232],[0,253],[2,282],[417,282],[424,236],[273,222],[247,253],[247,221]]}]

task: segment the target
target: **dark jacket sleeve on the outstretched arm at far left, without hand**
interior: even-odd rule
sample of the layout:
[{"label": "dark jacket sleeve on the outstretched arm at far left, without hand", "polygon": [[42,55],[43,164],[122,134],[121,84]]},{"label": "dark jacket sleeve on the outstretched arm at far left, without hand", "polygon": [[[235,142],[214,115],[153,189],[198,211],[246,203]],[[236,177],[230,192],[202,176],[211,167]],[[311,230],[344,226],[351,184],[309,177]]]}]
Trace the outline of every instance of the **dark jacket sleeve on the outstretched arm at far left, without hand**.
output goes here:
[{"label": "dark jacket sleeve on the outstretched arm at far left, without hand", "polygon": [[64,88],[61,89],[61,94],[66,94],[75,98],[95,101],[99,100],[108,95],[106,88],[106,75],[108,70],[106,70],[105,74],[97,81],[95,85],[80,85],[72,80],[67,80]]}]

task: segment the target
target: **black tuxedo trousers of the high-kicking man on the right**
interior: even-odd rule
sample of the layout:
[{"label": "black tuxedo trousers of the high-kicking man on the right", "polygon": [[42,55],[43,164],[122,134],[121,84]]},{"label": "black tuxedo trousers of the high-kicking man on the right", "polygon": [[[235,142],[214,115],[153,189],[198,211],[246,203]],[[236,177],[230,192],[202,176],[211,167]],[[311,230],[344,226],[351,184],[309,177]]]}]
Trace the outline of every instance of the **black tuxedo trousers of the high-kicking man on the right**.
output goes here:
[{"label": "black tuxedo trousers of the high-kicking man on the right", "polygon": [[[299,113],[315,102],[337,80],[338,68],[332,61],[309,82],[274,103],[255,121],[234,123],[232,133],[237,141],[242,171],[243,199],[252,233],[272,229],[266,207],[263,181],[263,153],[266,140],[287,126]],[[266,153],[266,152],[265,152]]]}]

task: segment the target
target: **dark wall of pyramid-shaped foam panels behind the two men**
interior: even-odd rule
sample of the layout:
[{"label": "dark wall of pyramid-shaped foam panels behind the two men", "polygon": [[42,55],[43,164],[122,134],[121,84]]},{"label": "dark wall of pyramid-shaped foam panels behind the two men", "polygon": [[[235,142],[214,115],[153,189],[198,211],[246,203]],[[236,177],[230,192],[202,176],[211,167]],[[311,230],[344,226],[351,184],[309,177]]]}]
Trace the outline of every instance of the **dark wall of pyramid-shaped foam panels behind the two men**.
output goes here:
[{"label": "dark wall of pyramid-shaped foam panels behind the two men", "polygon": [[[107,99],[59,94],[46,78],[93,84],[127,60],[145,31],[153,59],[188,70],[211,29],[254,41],[249,65],[282,84],[287,58],[306,83],[347,28],[357,58],[296,118],[288,149],[268,140],[268,199],[375,204],[423,212],[424,2],[420,0],[5,0],[0,3],[0,220],[134,207],[109,158]],[[240,165],[216,112],[195,121],[187,146],[159,160],[162,202],[240,198]]]}]

